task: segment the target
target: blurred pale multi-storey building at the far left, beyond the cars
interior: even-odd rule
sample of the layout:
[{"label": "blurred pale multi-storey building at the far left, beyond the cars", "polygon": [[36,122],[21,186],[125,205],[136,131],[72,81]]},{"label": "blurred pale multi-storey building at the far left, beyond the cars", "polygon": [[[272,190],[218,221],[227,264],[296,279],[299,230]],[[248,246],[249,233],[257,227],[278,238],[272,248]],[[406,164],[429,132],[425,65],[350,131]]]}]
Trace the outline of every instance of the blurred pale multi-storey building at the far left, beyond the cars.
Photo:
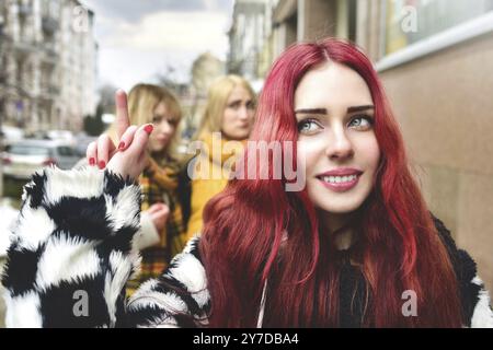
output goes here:
[{"label": "blurred pale multi-storey building at the far left, beyond the cars", "polygon": [[93,13],[77,0],[0,3],[2,122],[80,130],[96,104]]}]

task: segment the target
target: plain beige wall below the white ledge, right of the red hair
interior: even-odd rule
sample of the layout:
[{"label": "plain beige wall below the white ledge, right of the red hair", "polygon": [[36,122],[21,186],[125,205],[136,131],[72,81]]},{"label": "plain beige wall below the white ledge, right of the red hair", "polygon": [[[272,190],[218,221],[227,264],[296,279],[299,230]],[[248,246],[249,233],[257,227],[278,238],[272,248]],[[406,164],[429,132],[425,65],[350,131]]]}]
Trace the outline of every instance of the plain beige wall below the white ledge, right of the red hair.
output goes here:
[{"label": "plain beige wall below the white ledge, right of the red hair", "polygon": [[493,34],[380,73],[432,211],[493,291]]}]

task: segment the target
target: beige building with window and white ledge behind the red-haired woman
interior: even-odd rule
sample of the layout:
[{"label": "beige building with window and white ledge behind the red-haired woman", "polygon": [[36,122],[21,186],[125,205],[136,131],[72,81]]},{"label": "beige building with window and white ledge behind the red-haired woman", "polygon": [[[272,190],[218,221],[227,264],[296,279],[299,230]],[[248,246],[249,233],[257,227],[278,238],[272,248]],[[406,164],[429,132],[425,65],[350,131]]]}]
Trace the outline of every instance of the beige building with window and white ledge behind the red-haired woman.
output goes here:
[{"label": "beige building with window and white ledge behind the red-haired woman", "polygon": [[237,0],[232,16],[228,69],[252,80],[297,40],[370,56],[431,209],[493,290],[493,0]]}]

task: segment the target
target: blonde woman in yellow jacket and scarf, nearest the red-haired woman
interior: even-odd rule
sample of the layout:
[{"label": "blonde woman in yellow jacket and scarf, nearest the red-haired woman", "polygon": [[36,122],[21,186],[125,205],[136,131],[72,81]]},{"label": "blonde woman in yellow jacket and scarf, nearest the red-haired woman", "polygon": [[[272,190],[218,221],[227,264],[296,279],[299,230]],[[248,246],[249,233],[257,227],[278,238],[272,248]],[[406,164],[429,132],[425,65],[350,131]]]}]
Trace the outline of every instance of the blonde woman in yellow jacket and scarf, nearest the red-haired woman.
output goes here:
[{"label": "blonde woman in yellow jacket and scarf, nearest the red-haired woman", "polygon": [[[192,166],[188,166],[194,174],[188,173],[192,175],[192,195],[187,237],[200,232],[205,205],[226,187],[231,167],[227,161],[242,151],[240,142],[250,136],[254,108],[255,93],[241,77],[221,77],[209,88],[207,105],[197,132],[197,140],[203,142],[203,148]],[[238,147],[227,149],[222,147],[226,141],[240,142],[237,143]],[[202,175],[197,176],[197,172]]]}]

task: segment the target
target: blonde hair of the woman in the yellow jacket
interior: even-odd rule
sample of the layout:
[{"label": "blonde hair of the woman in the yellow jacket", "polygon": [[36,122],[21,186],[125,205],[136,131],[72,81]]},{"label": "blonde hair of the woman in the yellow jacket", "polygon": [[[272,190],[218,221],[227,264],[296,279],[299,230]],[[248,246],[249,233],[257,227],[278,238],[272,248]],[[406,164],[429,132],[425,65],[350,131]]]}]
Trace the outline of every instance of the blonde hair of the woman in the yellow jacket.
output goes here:
[{"label": "blonde hair of the woman in the yellow jacket", "polygon": [[217,79],[209,88],[207,105],[198,127],[197,137],[205,133],[221,131],[222,116],[228,104],[228,97],[236,86],[244,88],[255,100],[255,93],[250,83],[239,75],[225,75]]}]

